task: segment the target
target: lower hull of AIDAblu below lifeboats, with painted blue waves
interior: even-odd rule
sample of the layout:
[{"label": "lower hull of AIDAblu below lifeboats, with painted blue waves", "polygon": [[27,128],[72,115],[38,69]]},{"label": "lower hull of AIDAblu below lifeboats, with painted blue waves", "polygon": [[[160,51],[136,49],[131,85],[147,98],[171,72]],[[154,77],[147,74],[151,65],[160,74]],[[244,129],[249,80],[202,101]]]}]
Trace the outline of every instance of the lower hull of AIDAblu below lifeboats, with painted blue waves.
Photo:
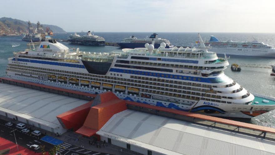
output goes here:
[{"label": "lower hull of AIDAblu below lifeboats, with painted blue waves", "polygon": [[[26,74],[24,74],[26,75]],[[58,87],[58,88],[64,88],[64,89],[69,89],[69,90],[76,90],[76,91],[82,91],[82,92],[87,92],[91,94],[101,94],[107,91],[111,90],[106,90],[100,88],[88,88],[88,87],[81,87],[81,86],[76,86],[76,85],[69,85],[65,84],[63,82],[55,82],[51,80],[38,80],[37,77],[33,76],[34,78],[30,78],[30,75],[22,76],[22,75],[16,75],[14,72],[8,72],[7,77],[15,80],[22,80],[22,81],[27,81],[27,82],[33,82],[41,85],[49,85],[53,87]],[[149,105],[154,105],[154,106],[161,106],[161,107],[166,107],[166,108],[172,108],[176,110],[182,110],[182,111],[189,111],[190,109],[196,109],[196,108],[201,108],[203,106],[211,106],[214,113],[206,113],[205,111],[202,110],[203,115],[209,115],[209,116],[219,116],[219,117],[240,117],[240,118],[252,118],[252,115],[249,115],[251,107],[255,107],[255,105],[232,105],[232,104],[227,104],[227,103],[218,103],[218,102],[209,102],[209,101],[203,101],[200,100],[198,101],[197,105],[193,107],[189,105],[181,105],[178,106],[175,103],[171,103],[169,101],[163,101],[163,100],[156,100],[152,98],[144,98],[144,97],[139,97],[139,96],[134,96],[134,95],[126,95],[123,93],[118,93],[118,92],[113,92],[118,98],[123,99],[123,100],[128,100],[128,101],[134,101],[134,102],[139,102],[141,104],[149,104]],[[257,106],[256,109],[254,110],[263,110],[263,111],[271,111],[275,109],[275,105],[270,105],[270,106]],[[197,109],[196,109],[197,110]],[[253,111],[254,111],[253,110]],[[200,113],[197,111],[196,113]],[[248,114],[248,115],[247,115]],[[252,114],[252,113],[251,113]]]}]

